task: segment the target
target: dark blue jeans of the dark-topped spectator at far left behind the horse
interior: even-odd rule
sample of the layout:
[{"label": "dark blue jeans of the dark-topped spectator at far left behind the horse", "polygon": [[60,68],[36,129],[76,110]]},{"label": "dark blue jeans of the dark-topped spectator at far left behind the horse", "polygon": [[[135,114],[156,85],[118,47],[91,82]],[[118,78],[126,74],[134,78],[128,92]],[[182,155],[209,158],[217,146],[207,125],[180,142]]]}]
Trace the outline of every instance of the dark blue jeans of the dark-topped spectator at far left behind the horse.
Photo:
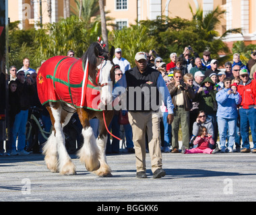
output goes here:
[{"label": "dark blue jeans of the dark-topped spectator at far left behind the horse", "polygon": [[18,151],[26,147],[26,123],[28,122],[28,110],[21,110],[16,114],[12,128],[11,150],[16,150],[16,138],[18,136]]}]

